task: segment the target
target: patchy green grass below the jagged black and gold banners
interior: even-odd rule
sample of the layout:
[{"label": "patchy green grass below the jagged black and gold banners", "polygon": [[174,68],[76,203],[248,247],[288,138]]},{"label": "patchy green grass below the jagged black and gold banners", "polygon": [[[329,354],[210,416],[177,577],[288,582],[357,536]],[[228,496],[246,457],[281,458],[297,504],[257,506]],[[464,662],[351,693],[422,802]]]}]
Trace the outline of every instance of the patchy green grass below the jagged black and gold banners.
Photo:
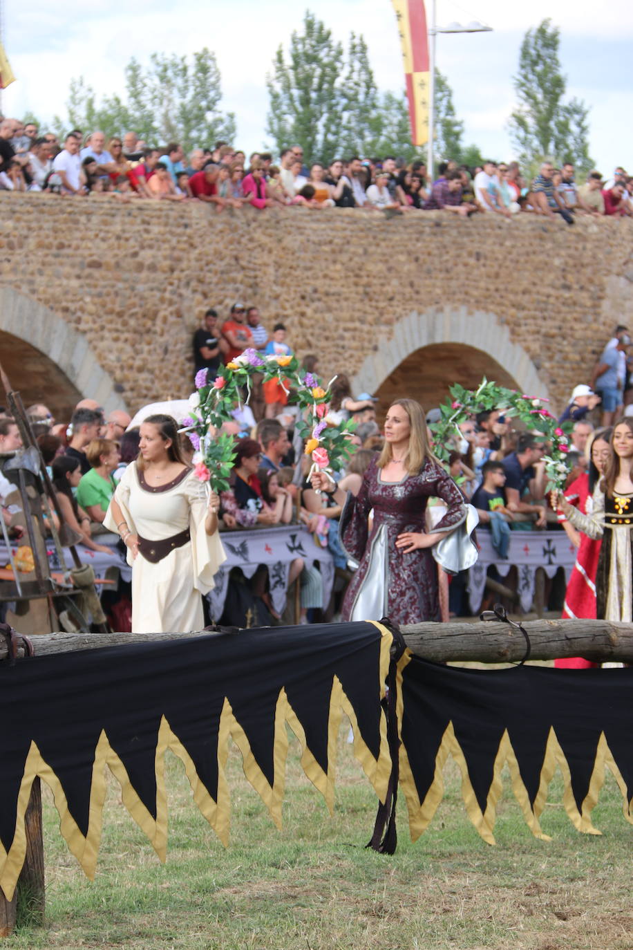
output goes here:
[{"label": "patchy green grass below the jagged black and gold banners", "polygon": [[232,841],[225,849],[198,813],[170,756],[169,850],[158,862],[110,777],[97,876],[84,878],[44,788],[47,921],[23,927],[7,950],[631,950],[633,827],[610,777],[593,813],[603,837],[579,834],[552,785],[543,815],[549,843],[524,825],[510,784],[497,845],[465,813],[456,768],[426,834],[409,840],[400,802],[398,851],[366,850],[376,800],[341,731],[330,818],[289,755],[284,829],[278,832],[229,759]]}]

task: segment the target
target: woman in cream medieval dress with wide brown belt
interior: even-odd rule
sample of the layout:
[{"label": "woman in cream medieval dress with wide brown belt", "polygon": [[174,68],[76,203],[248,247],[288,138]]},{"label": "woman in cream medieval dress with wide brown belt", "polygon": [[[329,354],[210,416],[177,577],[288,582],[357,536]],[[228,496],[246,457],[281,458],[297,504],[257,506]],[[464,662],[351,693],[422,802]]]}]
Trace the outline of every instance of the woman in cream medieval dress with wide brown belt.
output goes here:
[{"label": "woman in cream medieval dress with wide brown belt", "polygon": [[140,426],[140,457],[121,476],[103,522],[127,547],[133,633],[202,629],[201,596],[226,559],[218,508],[217,495],[207,501],[182,459],[176,421],[149,416]]}]

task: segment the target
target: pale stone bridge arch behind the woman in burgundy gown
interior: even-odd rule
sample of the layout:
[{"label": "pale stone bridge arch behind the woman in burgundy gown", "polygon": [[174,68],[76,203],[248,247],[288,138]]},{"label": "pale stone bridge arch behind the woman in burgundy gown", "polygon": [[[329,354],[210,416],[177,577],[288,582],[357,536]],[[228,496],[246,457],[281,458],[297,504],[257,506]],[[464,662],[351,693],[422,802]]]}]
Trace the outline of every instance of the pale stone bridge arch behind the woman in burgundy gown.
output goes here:
[{"label": "pale stone bridge arch behind the woman in burgundy gown", "polygon": [[[381,340],[375,352],[366,357],[354,377],[352,390],[355,393],[376,393],[385,384],[384,395],[387,398],[390,395],[387,390],[391,389],[386,382],[389,377],[394,376],[408,358],[413,360],[413,354],[427,348],[428,357],[434,358],[435,354],[434,365],[441,365],[437,361],[442,356],[446,358],[451,350],[456,353],[468,348],[470,352],[478,352],[480,359],[475,359],[474,365],[490,367],[490,371],[486,372],[489,379],[494,378],[492,373],[500,369],[502,378],[496,381],[501,385],[549,398],[548,387],[539,376],[531,357],[521,346],[512,343],[508,327],[495,314],[482,311],[469,313],[466,307],[435,308],[421,314],[413,311],[403,317],[394,325],[390,339]],[[423,373],[424,369],[425,362],[420,358],[419,372]],[[468,374],[463,371],[457,372],[457,375],[462,378],[447,377],[442,391],[438,391],[437,401],[429,403],[427,399],[427,403],[438,405],[453,383],[476,385],[482,373],[479,372],[475,380],[465,378]],[[411,395],[416,398],[413,392]]]}]

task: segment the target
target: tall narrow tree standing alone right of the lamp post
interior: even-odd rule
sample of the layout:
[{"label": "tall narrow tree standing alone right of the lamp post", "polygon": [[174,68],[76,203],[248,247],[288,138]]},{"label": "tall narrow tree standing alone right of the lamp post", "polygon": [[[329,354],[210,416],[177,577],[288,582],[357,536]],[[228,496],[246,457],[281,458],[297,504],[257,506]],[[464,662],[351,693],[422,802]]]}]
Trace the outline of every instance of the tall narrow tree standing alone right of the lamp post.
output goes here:
[{"label": "tall narrow tree standing alone right of the lamp post", "polygon": [[513,83],[519,101],[512,112],[512,142],[527,165],[546,157],[591,167],[588,155],[588,108],[578,99],[565,103],[566,77],[558,55],[560,31],[549,19],[526,33]]}]

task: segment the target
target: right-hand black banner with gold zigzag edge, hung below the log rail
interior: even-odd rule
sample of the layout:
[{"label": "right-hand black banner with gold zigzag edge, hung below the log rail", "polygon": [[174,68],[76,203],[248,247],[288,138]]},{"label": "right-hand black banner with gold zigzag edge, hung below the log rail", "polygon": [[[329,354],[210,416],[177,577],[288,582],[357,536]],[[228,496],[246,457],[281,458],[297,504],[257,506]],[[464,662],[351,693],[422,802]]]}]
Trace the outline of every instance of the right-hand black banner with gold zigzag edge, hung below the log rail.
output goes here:
[{"label": "right-hand black banner with gold zigzag edge, hung below the log rail", "polygon": [[400,787],[414,841],[442,799],[449,755],[461,771],[468,815],[490,844],[506,765],[538,838],[548,840],[539,818],[557,767],[566,811],[579,831],[600,834],[591,811],[605,769],[615,776],[624,817],[633,824],[633,669],[471,670],[407,653],[399,679]]}]

